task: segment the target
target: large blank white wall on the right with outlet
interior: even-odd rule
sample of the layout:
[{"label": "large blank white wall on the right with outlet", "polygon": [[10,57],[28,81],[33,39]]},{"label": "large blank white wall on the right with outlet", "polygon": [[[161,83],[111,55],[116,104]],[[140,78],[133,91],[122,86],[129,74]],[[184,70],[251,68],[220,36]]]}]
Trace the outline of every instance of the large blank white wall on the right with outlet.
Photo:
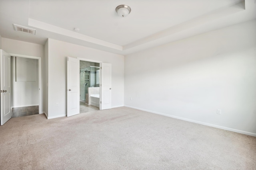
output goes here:
[{"label": "large blank white wall on the right with outlet", "polygon": [[255,30],[252,20],[125,56],[125,106],[255,136]]}]

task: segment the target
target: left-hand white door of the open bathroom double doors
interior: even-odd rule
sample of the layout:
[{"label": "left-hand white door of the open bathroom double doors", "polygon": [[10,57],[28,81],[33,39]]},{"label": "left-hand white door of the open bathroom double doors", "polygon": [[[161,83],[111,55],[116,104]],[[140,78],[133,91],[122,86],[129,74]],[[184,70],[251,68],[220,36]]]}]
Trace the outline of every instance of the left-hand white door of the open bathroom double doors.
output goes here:
[{"label": "left-hand white door of the open bathroom double doors", "polygon": [[67,57],[67,117],[80,112],[80,61]]}]

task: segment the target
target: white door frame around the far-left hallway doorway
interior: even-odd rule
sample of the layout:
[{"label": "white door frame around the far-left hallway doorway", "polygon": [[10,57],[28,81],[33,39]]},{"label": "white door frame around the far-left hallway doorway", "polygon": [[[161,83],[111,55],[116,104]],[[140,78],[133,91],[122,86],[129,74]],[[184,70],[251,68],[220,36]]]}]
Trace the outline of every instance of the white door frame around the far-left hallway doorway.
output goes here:
[{"label": "white door frame around the far-left hallway doorway", "polygon": [[13,57],[23,57],[28,59],[38,59],[38,86],[39,86],[39,114],[42,114],[42,58],[29,56],[29,55],[20,55],[20,54],[13,54],[9,53]]}]

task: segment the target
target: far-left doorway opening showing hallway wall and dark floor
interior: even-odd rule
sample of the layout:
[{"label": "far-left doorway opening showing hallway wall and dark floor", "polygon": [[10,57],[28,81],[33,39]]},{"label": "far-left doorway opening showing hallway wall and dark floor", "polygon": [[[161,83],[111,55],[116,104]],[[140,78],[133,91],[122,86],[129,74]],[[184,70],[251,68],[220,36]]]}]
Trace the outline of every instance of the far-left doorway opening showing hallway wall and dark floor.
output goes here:
[{"label": "far-left doorway opening showing hallway wall and dark floor", "polygon": [[11,56],[12,117],[39,114],[39,60]]}]

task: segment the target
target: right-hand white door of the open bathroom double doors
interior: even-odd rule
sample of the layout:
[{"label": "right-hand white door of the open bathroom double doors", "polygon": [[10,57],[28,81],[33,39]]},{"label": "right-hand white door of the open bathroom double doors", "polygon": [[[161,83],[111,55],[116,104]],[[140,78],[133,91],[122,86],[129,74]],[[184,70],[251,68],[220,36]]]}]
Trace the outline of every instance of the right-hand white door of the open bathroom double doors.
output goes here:
[{"label": "right-hand white door of the open bathroom double doors", "polygon": [[101,63],[100,110],[111,109],[111,64]]}]

